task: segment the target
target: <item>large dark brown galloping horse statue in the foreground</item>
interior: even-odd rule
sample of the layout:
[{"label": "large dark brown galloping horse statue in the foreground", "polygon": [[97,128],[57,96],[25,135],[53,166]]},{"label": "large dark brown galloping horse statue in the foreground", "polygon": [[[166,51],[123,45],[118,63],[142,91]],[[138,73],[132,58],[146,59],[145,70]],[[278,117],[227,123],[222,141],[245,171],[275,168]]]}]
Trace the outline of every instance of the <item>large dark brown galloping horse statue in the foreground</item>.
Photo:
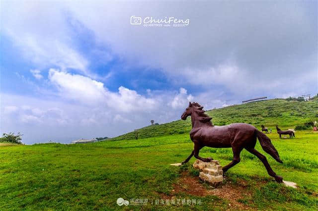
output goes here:
[{"label": "large dark brown galloping horse statue in the foreground", "polygon": [[272,145],[271,140],[254,126],[245,123],[214,126],[211,122],[212,118],[205,114],[203,106],[200,106],[198,103],[191,104],[191,102],[189,102],[189,106],[181,115],[181,119],[186,120],[188,116],[191,116],[192,130],[190,131],[190,138],[194,143],[194,150],[182,164],[188,162],[192,156],[204,162],[210,162],[212,158],[201,158],[199,156],[199,151],[203,147],[232,147],[233,161],[222,168],[223,173],[225,173],[229,168],[239,163],[239,154],[243,149],[246,149],[263,162],[268,174],[274,177],[276,182],[283,182],[283,177],[277,175],[273,171],[266,157],[255,150],[256,138],[258,138],[263,150],[271,155],[276,161],[283,163],[279,158],[277,150]]}]

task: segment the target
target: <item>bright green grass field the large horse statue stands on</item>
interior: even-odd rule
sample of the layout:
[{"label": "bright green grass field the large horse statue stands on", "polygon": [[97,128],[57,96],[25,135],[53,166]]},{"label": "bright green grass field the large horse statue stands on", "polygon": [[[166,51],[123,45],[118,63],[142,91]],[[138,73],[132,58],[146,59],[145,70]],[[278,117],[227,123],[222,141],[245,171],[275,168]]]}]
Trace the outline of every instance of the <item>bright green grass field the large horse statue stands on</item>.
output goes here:
[{"label": "bright green grass field the large horse statue stands on", "polygon": [[[253,105],[264,106],[264,103],[268,101],[240,106],[251,106],[248,111],[252,113],[255,109]],[[302,106],[307,107],[308,104],[312,105],[308,106],[306,114],[302,114],[308,116],[286,118],[288,113],[297,111],[288,108],[287,114],[282,116],[256,117],[264,118],[262,121],[268,122],[267,125],[275,124],[272,122],[275,119],[282,127],[291,128],[315,118],[317,101],[304,102]],[[232,106],[230,109],[238,108]],[[223,108],[211,113],[230,118],[231,113],[226,111],[231,110]],[[244,115],[231,118],[246,118],[244,122],[248,123],[260,121],[256,117]],[[154,134],[156,132],[153,131]],[[192,151],[193,144],[186,132],[138,140],[112,139],[92,144],[0,146],[0,210],[141,209],[132,205],[118,206],[116,200],[120,197],[128,201],[148,199],[143,210],[318,210],[318,133],[304,130],[297,131],[295,135],[293,139],[279,139],[276,130],[268,134],[283,164],[264,153],[259,143],[256,149],[268,158],[272,168],[284,180],[296,182],[298,189],[274,182],[262,163],[243,150],[241,162],[226,173],[223,187],[227,188],[225,190],[230,196],[214,195],[213,187],[198,182],[198,172],[191,168],[194,158],[182,167],[169,165],[181,162]],[[218,159],[223,166],[232,160],[231,149],[203,148],[200,155]],[[196,194],[192,190],[193,181],[197,181],[200,190],[207,190],[208,194]],[[162,205],[161,199],[163,202],[190,199],[200,201],[201,205]],[[156,200],[159,200],[159,205],[156,205]]]}]

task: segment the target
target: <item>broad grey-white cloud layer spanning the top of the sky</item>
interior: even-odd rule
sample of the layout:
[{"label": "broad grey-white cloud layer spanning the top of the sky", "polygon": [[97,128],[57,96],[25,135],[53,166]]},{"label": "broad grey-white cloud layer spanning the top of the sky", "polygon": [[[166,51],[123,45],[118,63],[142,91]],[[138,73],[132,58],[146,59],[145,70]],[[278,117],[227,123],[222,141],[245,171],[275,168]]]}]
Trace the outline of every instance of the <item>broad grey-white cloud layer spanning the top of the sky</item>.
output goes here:
[{"label": "broad grey-white cloud layer spanning the top of the sky", "polygon": [[[99,76],[88,69],[91,61],[72,42],[72,36],[83,29],[92,33],[91,39],[96,39],[97,44],[109,46],[124,58],[128,66],[161,69],[171,81],[179,81],[176,76],[186,79],[183,84],[207,86],[213,78],[227,88],[227,83],[238,76],[241,84],[257,80],[268,87],[282,88],[284,85],[276,78],[291,79],[300,70],[317,70],[318,24],[316,16],[311,15],[317,13],[315,1],[210,1],[196,3],[195,11],[191,2],[168,5],[160,1],[137,1],[133,5],[116,1],[5,1],[2,7],[6,9],[1,14],[1,30],[28,58],[45,67],[73,68],[93,79]],[[131,14],[158,18],[171,14],[189,18],[190,24],[180,28],[132,26]],[[92,51],[105,54],[105,61],[114,56]],[[228,65],[229,60],[234,60],[235,65]],[[196,70],[198,75],[193,73]],[[316,81],[308,80],[308,87],[317,87]],[[241,84],[234,83],[231,91]],[[240,93],[245,95],[257,87],[258,83],[251,83]]]}]

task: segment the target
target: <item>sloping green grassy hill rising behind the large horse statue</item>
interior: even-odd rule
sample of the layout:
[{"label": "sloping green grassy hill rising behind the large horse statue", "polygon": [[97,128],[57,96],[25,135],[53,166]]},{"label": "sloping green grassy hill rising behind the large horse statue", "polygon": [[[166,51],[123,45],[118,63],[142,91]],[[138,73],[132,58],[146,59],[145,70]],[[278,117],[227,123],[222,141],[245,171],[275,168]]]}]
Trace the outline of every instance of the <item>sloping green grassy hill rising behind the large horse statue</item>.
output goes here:
[{"label": "sloping green grassy hill rising behind the large horse statue", "polygon": [[[260,128],[264,124],[268,128],[295,128],[305,122],[318,120],[318,99],[299,102],[282,99],[258,101],[241,105],[227,106],[208,110],[207,114],[213,117],[214,125],[226,125],[235,122],[244,122]],[[181,113],[180,113],[181,116]],[[151,125],[138,129],[139,138],[149,138],[162,135],[188,133],[191,130],[191,118],[186,121],[177,120],[160,125]],[[130,132],[112,140],[135,139],[135,132]]]}]

